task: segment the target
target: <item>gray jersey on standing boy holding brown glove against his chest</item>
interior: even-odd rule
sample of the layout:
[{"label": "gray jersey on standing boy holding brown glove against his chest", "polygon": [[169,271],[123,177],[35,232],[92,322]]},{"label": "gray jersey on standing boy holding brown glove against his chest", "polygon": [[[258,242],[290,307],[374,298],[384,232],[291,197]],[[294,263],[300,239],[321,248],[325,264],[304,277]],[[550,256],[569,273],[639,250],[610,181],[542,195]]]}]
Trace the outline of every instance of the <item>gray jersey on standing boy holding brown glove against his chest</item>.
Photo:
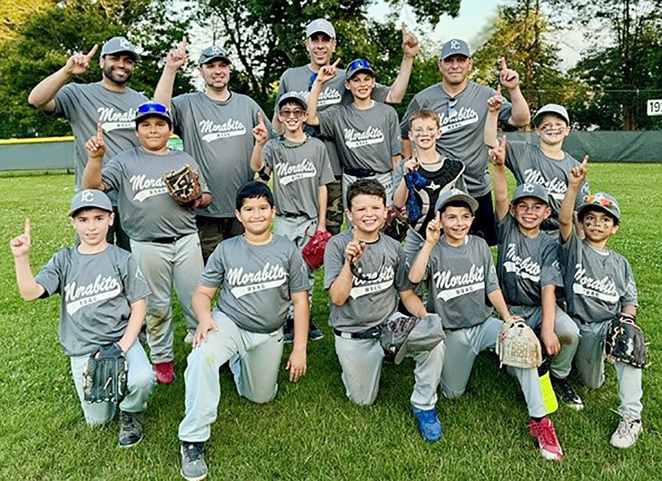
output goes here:
[{"label": "gray jersey on standing boy holding brown glove against his chest", "polygon": [[[118,192],[122,226],[131,239],[149,242],[198,231],[192,209],[177,204],[161,180],[164,172],[184,164],[200,172],[186,152],[155,155],[136,147],[120,153],[103,167],[101,181],[105,190]],[[209,192],[204,177],[199,177],[203,192]]]}]

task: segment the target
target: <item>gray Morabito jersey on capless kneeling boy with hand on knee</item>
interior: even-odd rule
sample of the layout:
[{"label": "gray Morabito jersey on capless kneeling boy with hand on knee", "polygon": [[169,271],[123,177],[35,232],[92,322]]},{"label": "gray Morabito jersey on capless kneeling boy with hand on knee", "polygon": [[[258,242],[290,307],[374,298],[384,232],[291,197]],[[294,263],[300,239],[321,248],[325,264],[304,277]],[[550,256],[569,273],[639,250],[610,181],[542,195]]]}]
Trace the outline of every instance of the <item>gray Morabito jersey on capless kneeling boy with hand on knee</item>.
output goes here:
[{"label": "gray Morabito jersey on capless kneeling boy with hand on knee", "polygon": [[308,290],[308,274],[294,242],[274,235],[257,246],[242,235],[218,244],[200,283],[221,287],[216,309],[240,328],[272,333],[285,324],[290,294]]}]

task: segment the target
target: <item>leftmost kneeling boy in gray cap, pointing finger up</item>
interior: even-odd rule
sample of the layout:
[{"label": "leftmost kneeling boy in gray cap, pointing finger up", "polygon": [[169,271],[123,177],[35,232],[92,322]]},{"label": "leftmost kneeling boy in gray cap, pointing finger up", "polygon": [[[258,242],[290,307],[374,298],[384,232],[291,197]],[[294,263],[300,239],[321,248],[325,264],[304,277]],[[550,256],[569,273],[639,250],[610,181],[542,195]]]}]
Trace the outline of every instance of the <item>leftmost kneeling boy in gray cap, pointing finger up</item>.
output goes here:
[{"label": "leftmost kneeling boy in gray cap, pointing finger up", "polygon": [[55,252],[33,276],[30,270],[30,220],[25,231],[10,241],[18,292],[25,300],[60,294],[60,345],[69,356],[71,376],[90,426],[111,421],[112,402],[87,402],[83,370],[90,354],[115,343],[128,363],[127,394],[119,404],[119,445],[133,446],[142,437],[142,413],[155,377],[138,339],[147,312],[149,287],[130,252],[106,241],[113,223],[110,199],[99,190],[81,190],[71,200],[71,224],[80,244]]}]

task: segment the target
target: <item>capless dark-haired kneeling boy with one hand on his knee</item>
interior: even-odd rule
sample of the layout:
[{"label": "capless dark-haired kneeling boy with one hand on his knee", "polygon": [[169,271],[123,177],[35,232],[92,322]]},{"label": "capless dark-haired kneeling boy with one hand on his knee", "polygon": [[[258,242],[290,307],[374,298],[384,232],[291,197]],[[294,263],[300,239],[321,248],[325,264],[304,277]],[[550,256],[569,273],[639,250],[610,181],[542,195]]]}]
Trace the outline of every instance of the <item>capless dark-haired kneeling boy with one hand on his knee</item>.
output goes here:
[{"label": "capless dark-haired kneeling boy with one hand on his knee", "polygon": [[204,443],[216,421],[223,363],[230,361],[240,395],[257,403],[275,398],[290,302],[294,347],[286,368],[291,381],[306,372],[308,277],[301,253],[294,242],[270,233],[276,209],[266,184],[244,184],[235,213],[246,232],[218,244],[191,299],[199,324],[184,373],[186,415],[179,424],[180,472],[187,480],[207,476]]}]

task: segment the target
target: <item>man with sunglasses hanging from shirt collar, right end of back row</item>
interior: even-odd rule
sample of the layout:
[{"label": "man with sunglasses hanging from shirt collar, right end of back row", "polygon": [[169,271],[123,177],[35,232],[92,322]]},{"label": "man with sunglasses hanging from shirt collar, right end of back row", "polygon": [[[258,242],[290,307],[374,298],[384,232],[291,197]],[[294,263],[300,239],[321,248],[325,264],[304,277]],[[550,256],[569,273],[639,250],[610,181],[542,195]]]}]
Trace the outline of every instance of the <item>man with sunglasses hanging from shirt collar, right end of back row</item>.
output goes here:
[{"label": "man with sunglasses hanging from shirt collar, right end of back row", "polygon": [[[496,244],[494,207],[487,173],[487,148],[483,144],[483,128],[487,117],[487,99],[496,90],[467,80],[473,67],[469,46],[464,40],[448,40],[442,47],[439,70],[442,81],[416,94],[400,124],[403,133],[403,155],[411,156],[409,116],[422,108],[433,109],[439,115],[442,136],[437,150],[451,159],[464,162],[464,179],[469,194],[479,208],[472,232],[481,235],[487,244]],[[515,127],[524,127],[531,120],[529,105],[520,91],[520,76],[501,60],[499,81],[508,89],[511,102],[504,101],[499,120]]]}]

